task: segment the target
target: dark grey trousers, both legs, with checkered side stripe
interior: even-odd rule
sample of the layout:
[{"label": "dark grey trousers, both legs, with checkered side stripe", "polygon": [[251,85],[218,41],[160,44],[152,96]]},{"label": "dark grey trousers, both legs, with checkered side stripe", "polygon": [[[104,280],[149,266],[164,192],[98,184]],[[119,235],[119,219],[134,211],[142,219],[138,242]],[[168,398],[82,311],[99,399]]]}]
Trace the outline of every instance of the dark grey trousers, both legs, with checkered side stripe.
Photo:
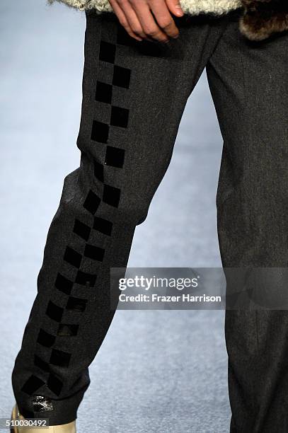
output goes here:
[{"label": "dark grey trousers, both legs, with checkered side stripe", "polygon": [[[205,67],[224,139],[222,263],[287,265],[288,34],[250,42],[239,13],[175,18],[180,37],[163,45],[87,13],[81,162],[64,179],[12,374],[24,416],[76,418],[113,319],[110,267],[127,265]],[[231,432],[287,432],[288,312],[226,311],[226,345]]]}]

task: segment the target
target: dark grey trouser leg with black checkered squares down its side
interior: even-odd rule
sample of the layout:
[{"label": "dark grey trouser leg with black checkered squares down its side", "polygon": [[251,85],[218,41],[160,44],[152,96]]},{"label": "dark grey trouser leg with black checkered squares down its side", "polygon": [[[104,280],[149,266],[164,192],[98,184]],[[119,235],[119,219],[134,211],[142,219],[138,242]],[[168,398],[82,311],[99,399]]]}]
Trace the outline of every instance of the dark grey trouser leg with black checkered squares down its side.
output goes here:
[{"label": "dark grey trouser leg with black checkered squares down its side", "polygon": [[22,414],[50,425],[76,418],[115,313],[110,267],[127,264],[187,98],[226,26],[178,18],[180,37],[161,45],[132,39],[113,14],[86,18],[80,166],[64,179],[12,374]]}]

